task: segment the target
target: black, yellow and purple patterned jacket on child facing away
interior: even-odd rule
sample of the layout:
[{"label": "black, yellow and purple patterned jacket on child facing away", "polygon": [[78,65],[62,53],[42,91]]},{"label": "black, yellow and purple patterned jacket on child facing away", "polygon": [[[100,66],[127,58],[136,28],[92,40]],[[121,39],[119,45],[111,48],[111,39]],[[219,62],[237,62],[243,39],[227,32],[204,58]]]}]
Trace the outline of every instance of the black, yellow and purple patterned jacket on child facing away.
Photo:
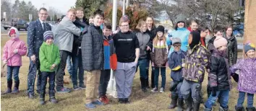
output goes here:
[{"label": "black, yellow and purple patterned jacket on child facing away", "polygon": [[186,66],[183,68],[184,79],[202,82],[205,76],[205,68],[209,63],[208,56],[208,50],[202,45],[195,45],[193,49],[188,48],[185,59]]}]

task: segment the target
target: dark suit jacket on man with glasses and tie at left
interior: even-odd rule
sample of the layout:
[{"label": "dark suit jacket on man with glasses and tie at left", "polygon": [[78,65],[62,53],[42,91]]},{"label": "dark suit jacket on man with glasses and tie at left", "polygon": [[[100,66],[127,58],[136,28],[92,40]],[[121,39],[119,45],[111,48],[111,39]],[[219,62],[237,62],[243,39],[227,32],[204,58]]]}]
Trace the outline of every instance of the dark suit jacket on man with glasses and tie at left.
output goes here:
[{"label": "dark suit jacket on man with glasses and tie at left", "polygon": [[43,26],[39,19],[30,22],[27,31],[27,57],[35,55],[36,61],[39,61],[39,48],[43,43],[43,33],[48,30],[51,30],[51,25],[46,23],[46,30],[43,30]]}]

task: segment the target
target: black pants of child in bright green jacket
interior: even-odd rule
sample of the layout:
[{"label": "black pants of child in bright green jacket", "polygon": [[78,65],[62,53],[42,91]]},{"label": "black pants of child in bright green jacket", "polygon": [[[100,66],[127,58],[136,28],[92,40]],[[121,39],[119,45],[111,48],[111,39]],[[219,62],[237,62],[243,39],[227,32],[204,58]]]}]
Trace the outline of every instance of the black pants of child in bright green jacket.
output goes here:
[{"label": "black pants of child in bright green jacket", "polygon": [[49,96],[51,99],[55,97],[55,92],[54,92],[55,72],[45,72],[45,71],[42,71],[40,98],[45,98],[47,78],[49,78]]}]

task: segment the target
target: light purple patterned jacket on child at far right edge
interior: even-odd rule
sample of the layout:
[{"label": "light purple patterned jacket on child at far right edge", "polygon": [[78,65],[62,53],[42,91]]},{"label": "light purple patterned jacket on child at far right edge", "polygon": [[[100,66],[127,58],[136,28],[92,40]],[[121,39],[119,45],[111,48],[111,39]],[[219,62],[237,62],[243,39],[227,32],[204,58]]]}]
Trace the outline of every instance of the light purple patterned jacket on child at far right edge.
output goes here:
[{"label": "light purple patterned jacket on child at far right edge", "polygon": [[239,92],[256,94],[256,58],[241,59],[231,66],[230,70],[231,73],[240,71],[237,88]]}]

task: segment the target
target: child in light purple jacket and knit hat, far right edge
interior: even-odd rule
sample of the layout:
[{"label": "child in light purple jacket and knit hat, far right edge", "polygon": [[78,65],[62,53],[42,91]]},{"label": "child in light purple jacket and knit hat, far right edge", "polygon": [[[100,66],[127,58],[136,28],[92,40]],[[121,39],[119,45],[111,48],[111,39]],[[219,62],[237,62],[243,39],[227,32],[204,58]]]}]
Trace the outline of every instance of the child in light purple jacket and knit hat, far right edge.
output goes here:
[{"label": "child in light purple jacket and knit hat, far right edge", "polygon": [[253,107],[253,97],[256,93],[256,58],[255,58],[255,45],[247,43],[244,45],[244,53],[248,58],[238,61],[234,66],[231,66],[231,73],[239,70],[238,87],[239,97],[236,111],[244,111],[243,103],[245,93],[247,93],[247,111],[256,111]]}]

